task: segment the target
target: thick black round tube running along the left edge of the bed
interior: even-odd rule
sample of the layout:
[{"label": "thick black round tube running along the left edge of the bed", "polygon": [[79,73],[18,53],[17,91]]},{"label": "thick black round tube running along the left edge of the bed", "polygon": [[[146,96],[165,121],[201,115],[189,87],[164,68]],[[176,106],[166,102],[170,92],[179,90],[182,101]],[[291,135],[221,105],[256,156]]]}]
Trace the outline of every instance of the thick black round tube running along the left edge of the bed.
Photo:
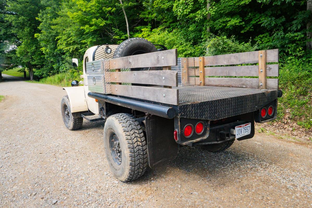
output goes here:
[{"label": "thick black round tube running along the left edge of the bed", "polygon": [[110,95],[105,95],[105,94],[100,94],[96,92],[89,92],[88,93],[89,97],[109,102],[115,105],[131,108],[134,110],[142,111],[149,113],[151,115],[156,115],[156,116],[161,116],[164,118],[173,118],[176,114],[175,109],[172,107],[168,106],[162,106],[162,105],[156,105],[148,102],[141,102],[141,101],[136,101],[136,100],[130,100],[126,98],[121,98],[121,97],[115,97],[115,96],[110,96]]}]

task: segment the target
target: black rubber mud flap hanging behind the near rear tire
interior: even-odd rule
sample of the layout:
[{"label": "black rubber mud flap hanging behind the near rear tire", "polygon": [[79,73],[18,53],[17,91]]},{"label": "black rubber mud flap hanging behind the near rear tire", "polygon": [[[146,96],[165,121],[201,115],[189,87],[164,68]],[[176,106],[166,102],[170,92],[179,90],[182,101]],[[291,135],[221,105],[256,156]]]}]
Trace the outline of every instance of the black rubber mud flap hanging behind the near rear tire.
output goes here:
[{"label": "black rubber mud flap hanging behind the near rear tire", "polygon": [[178,155],[178,143],[173,138],[174,120],[146,116],[145,126],[149,166],[155,168],[173,161]]}]

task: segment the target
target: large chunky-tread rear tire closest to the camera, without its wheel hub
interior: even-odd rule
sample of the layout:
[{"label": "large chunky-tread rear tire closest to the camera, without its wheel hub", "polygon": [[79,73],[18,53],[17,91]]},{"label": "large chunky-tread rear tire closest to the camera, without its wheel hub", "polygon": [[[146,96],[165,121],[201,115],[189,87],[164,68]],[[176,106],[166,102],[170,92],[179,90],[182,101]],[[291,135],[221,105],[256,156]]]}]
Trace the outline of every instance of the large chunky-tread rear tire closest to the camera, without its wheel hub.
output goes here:
[{"label": "large chunky-tread rear tire closest to the camera, without its wheel hub", "polygon": [[[114,133],[122,153],[120,165],[114,161],[110,148]],[[148,164],[147,144],[139,122],[131,114],[118,113],[107,118],[104,147],[110,169],[120,181],[133,181],[144,174]]]}]

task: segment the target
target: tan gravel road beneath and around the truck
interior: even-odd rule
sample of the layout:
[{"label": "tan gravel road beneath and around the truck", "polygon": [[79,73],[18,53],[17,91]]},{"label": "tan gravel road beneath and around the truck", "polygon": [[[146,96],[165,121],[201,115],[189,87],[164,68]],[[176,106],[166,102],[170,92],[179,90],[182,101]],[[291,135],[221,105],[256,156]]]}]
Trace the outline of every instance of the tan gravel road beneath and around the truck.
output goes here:
[{"label": "tan gravel road beneath and around the truck", "polygon": [[0,83],[0,207],[312,207],[312,147],[256,133],[222,153],[184,147],[123,183],[110,172],[103,122],[63,124],[61,87]]}]

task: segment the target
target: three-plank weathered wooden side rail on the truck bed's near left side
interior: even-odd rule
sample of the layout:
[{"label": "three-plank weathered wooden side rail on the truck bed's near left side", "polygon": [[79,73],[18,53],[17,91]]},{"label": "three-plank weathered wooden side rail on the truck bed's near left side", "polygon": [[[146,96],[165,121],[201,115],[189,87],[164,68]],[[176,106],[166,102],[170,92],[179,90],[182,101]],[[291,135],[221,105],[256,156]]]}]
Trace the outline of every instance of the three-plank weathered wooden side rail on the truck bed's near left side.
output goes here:
[{"label": "three-plank weathered wooden side rail on the truck bed's near left side", "polygon": [[[177,65],[177,49],[140,54],[135,56],[109,59],[110,92],[113,95],[133,97],[143,100],[155,101],[171,105],[178,105],[178,89],[171,89],[178,86],[178,73],[171,71],[171,66]],[[140,68],[140,67],[163,67],[163,70],[156,71],[130,71],[120,72],[119,68]],[[117,71],[118,70],[118,71]],[[163,87],[144,87],[122,85],[121,83],[135,83],[158,85]]]}]

